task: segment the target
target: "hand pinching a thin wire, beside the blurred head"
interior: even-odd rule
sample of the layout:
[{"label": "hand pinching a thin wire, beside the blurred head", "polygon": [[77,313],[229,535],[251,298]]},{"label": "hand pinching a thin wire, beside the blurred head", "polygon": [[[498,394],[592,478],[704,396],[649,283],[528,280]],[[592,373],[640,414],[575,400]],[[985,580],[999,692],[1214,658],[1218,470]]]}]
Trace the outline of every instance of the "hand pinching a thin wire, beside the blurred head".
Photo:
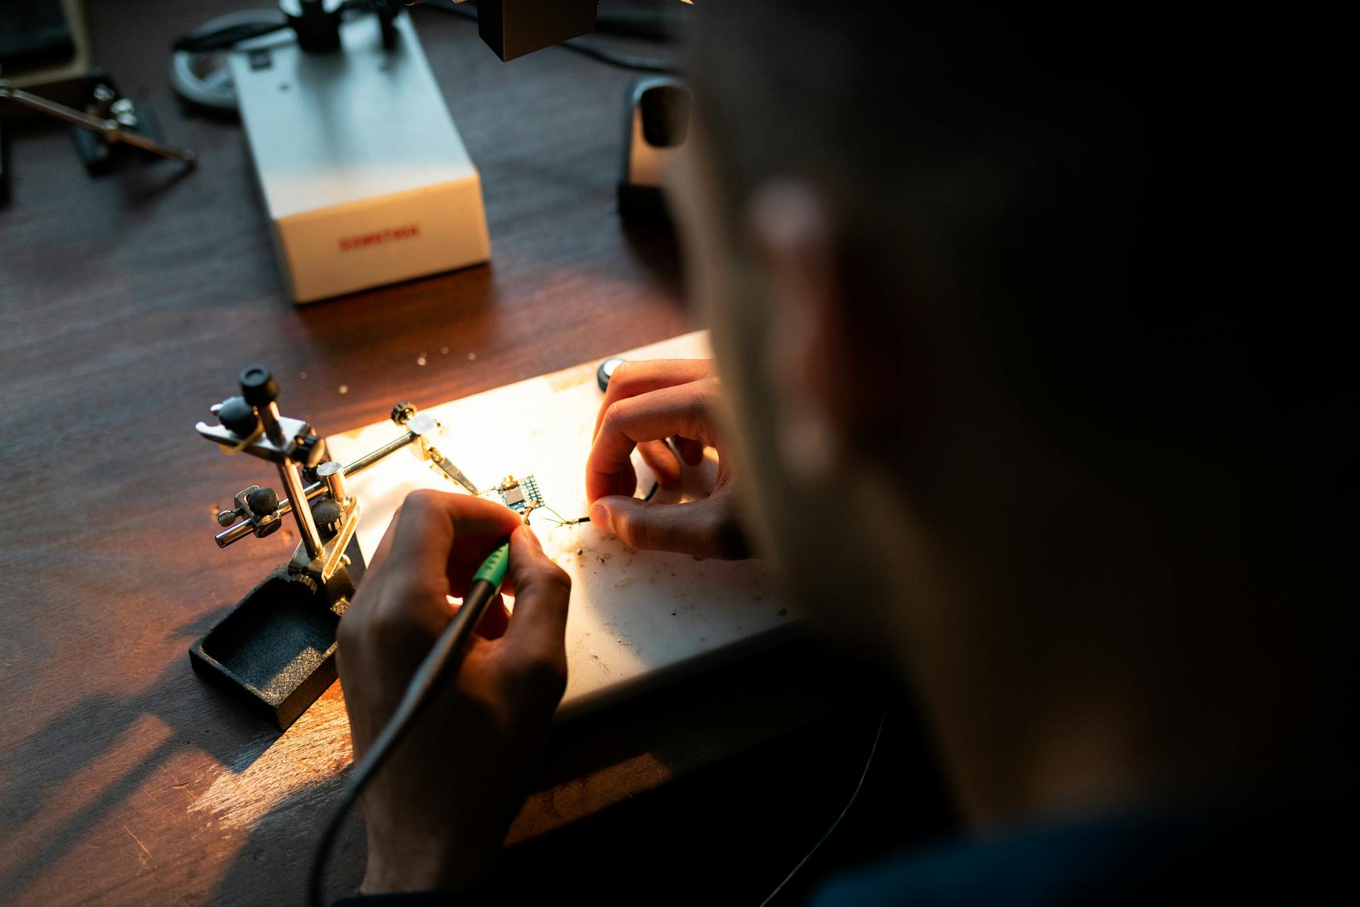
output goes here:
[{"label": "hand pinching a thin wire, beside the blurred head", "polygon": [[[703,558],[747,558],[738,522],[740,483],[713,417],[718,375],[704,359],[624,362],[609,378],[586,462],[590,522],[634,548],[677,551]],[[675,450],[666,445],[672,438]],[[662,488],[680,485],[679,451],[690,465],[704,447],[718,451],[718,480],[707,498],[680,504],[639,500],[632,449]]]}]

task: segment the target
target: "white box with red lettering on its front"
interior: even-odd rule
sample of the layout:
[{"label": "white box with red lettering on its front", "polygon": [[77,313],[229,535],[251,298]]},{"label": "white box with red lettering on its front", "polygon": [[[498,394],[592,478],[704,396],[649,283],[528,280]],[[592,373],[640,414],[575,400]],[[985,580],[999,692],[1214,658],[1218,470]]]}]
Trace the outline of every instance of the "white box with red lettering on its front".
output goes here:
[{"label": "white box with red lettering on its front", "polygon": [[407,15],[382,46],[375,16],[344,48],[305,53],[291,31],[231,54],[250,154],[295,302],[491,257],[481,178]]}]

